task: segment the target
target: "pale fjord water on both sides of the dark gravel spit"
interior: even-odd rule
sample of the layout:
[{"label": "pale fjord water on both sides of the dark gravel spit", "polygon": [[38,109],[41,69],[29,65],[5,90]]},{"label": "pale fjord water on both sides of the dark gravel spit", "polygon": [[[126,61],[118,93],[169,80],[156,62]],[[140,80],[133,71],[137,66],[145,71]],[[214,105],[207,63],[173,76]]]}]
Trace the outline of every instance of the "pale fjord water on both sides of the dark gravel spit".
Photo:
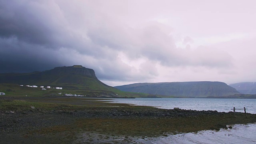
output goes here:
[{"label": "pale fjord water on both sides of the dark gravel spit", "polygon": [[[187,110],[217,110],[229,112],[235,108],[248,108],[246,112],[256,114],[256,99],[210,99],[210,98],[114,98],[112,103],[126,103],[140,106]],[[244,110],[236,110],[244,112]],[[235,124],[232,129],[220,131],[204,130],[197,133],[169,135],[139,141],[146,144],[256,144],[256,124]]]}]

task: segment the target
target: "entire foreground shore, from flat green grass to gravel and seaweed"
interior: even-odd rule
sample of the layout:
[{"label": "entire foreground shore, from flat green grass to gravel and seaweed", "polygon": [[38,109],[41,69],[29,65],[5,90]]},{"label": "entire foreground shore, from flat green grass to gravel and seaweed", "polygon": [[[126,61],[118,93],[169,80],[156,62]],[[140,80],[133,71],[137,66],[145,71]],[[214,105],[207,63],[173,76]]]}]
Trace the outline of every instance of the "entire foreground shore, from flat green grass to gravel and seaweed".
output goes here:
[{"label": "entire foreground shore, from flat green grass to gravel and seaweed", "polygon": [[[111,100],[110,100],[111,101]],[[256,122],[256,114],[168,110],[95,98],[0,97],[0,143],[137,143]],[[120,139],[121,138],[121,139]]]}]

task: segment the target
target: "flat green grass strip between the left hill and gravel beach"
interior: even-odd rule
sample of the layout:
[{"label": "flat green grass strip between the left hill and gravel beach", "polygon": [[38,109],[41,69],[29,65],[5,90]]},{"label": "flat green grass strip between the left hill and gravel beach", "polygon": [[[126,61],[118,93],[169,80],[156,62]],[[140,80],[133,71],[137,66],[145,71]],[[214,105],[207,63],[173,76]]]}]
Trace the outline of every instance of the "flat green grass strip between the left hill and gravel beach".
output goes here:
[{"label": "flat green grass strip between the left hill and gravel beach", "polygon": [[[132,106],[129,104],[115,104],[107,103],[98,100],[96,98],[74,98],[65,96],[48,96],[48,97],[29,97],[29,96],[1,96],[0,97],[0,110],[28,110],[30,106],[40,108],[44,110],[54,109],[66,109],[66,110],[82,110],[84,108],[111,108],[111,107],[122,107],[122,108],[150,108],[147,106]],[[111,101],[111,100],[110,100]]]}]

